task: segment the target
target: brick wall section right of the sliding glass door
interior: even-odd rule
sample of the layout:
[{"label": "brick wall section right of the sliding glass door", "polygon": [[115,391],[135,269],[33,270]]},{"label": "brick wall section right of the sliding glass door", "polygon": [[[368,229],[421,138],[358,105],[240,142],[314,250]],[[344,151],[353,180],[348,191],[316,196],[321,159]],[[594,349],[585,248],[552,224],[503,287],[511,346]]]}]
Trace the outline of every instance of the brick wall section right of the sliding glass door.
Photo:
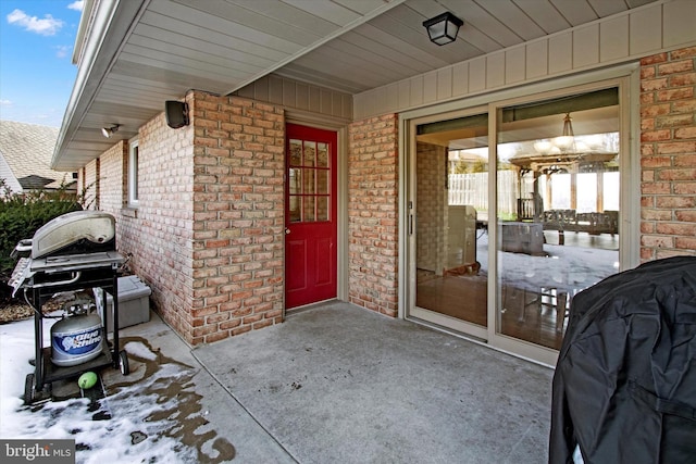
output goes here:
[{"label": "brick wall section right of the sliding glass door", "polygon": [[641,66],[641,260],[696,255],[696,47]]}]

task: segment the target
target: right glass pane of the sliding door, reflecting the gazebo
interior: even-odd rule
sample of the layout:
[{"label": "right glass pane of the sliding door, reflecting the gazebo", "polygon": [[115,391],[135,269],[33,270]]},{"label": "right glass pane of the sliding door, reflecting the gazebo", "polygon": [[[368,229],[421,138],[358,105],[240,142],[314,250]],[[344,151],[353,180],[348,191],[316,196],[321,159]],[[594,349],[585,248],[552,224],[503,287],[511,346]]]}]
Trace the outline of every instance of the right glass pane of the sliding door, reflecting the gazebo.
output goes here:
[{"label": "right glass pane of the sliding door, reflecting the gazebo", "polygon": [[498,209],[496,331],[559,349],[573,297],[619,271],[619,181],[601,180],[619,168],[618,89],[507,106],[498,121],[497,175],[517,201]]}]

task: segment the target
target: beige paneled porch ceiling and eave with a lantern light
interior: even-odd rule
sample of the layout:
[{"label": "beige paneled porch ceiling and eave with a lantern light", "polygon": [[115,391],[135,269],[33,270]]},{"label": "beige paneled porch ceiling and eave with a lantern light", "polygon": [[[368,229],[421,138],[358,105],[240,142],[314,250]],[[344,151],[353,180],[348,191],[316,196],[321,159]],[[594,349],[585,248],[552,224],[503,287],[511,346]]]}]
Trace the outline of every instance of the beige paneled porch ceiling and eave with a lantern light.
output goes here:
[{"label": "beige paneled porch ceiling and eave with a lantern light", "polygon": [[[87,0],[78,74],[52,167],[75,171],[189,89],[227,95],[271,73],[359,93],[657,0]],[[455,43],[423,21],[464,20]]]}]

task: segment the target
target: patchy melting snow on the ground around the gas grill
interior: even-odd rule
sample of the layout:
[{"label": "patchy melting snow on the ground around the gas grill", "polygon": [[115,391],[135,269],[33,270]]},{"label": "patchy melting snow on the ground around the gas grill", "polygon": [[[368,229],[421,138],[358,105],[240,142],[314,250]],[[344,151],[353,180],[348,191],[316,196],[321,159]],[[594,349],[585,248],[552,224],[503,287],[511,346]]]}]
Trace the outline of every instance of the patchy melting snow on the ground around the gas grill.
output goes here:
[{"label": "patchy melting snow on the ground around the gas grill", "polygon": [[[44,319],[45,346],[53,319]],[[74,439],[77,463],[190,463],[234,457],[234,447],[207,428],[194,369],[151,350],[145,340],[123,338],[130,375],[105,368],[108,398],[24,405],[24,384],[34,372],[34,319],[0,325],[0,437]],[[111,371],[113,373],[105,373]],[[77,389],[78,391],[78,389]],[[103,418],[110,414],[111,418]]]}]

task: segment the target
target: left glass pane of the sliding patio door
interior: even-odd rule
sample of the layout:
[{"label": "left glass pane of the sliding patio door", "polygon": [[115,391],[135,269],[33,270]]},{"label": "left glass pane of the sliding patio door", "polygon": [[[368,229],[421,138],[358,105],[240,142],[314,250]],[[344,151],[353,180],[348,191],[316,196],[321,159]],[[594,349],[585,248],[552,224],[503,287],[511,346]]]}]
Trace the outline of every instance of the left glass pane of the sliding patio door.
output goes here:
[{"label": "left glass pane of the sliding patio door", "polygon": [[487,325],[488,118],[421,124],[415,140],[415,311],[480,337]]}]

